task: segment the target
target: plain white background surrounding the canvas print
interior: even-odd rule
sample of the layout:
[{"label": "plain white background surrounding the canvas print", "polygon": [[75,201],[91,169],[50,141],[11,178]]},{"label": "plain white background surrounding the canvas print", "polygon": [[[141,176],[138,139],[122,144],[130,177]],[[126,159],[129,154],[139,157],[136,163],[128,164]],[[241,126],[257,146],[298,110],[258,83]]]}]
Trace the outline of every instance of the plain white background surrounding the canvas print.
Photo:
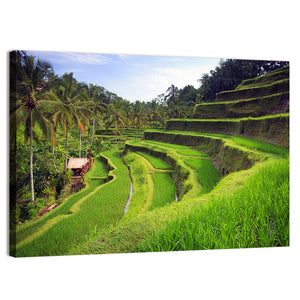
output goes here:
[{"label": "plain white background surrounding the canvas print", "polygon": [[[299,299],[299,6],[290,0],[202,2],[1,2],[2,299]],[[291,246],[9,257],[7,66],[15,49],[289,60]]]}]

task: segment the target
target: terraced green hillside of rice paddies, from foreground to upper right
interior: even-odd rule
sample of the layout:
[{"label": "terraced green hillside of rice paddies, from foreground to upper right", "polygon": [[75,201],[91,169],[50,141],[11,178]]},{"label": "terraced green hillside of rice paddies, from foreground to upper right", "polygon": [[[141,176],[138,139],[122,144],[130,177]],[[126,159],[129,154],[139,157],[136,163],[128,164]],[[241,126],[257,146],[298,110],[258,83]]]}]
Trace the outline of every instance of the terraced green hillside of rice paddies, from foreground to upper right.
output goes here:
[{"label": "terraced green hillside of rice paddies, from foreground to upper right", "polygon": [[85,189],[19,228],[16,256],[288,246],[288,74],[102,153]]}]

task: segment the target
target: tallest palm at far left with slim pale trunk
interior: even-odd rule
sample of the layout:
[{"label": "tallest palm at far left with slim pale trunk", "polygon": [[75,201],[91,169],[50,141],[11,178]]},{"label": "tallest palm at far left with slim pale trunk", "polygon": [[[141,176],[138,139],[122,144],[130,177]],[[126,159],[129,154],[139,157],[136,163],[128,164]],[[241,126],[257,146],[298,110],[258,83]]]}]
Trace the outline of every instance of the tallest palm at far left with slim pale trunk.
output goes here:
[{"label": "tallest palm at far left with slim pale trunk", "polygon": [[14,97],[15,110],[11,113],[11,133],[14,135],[20,125],[25,125],[25,140],[30,139],[30,190],[31,203],[34,204],[34,178],[33,178],[33,128],[37,124],[48,140],[54,141],[52,124],[45,118],[43,109],[53,104],[44,99],[47,76],[51,70],[48,63],[41,62],[33,56],[24,55],[18,64],[18,78]]}]

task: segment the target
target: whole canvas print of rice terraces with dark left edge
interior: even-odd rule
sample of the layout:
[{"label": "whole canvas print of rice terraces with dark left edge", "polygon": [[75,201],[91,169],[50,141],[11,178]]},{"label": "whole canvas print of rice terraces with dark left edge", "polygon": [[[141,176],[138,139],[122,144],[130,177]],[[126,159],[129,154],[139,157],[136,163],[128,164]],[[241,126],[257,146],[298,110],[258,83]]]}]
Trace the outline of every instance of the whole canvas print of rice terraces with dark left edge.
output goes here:
[{"label": "whole canvas print of rice terraces with dark left edge", "polygon": [[289,246],[289,62],[9,53],[10,255]]}]

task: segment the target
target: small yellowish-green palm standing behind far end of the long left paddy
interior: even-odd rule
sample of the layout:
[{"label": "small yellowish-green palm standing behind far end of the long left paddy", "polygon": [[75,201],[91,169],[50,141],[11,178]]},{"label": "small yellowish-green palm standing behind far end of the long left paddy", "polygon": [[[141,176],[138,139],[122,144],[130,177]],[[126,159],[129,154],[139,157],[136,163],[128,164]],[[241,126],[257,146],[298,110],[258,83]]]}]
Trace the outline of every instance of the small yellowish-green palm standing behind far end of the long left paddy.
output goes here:
[{"label": "small yellowish-green palm standing behind far end of the long left paddy", "polygon": [[107,115],[104,118],[106,128],[109,128],[112,125],[115,127],[115,150],[117,150],[118,130],[127,125],[123,106],[124,100],[122,98],[116,98],[114,103],[109,104]]}]

